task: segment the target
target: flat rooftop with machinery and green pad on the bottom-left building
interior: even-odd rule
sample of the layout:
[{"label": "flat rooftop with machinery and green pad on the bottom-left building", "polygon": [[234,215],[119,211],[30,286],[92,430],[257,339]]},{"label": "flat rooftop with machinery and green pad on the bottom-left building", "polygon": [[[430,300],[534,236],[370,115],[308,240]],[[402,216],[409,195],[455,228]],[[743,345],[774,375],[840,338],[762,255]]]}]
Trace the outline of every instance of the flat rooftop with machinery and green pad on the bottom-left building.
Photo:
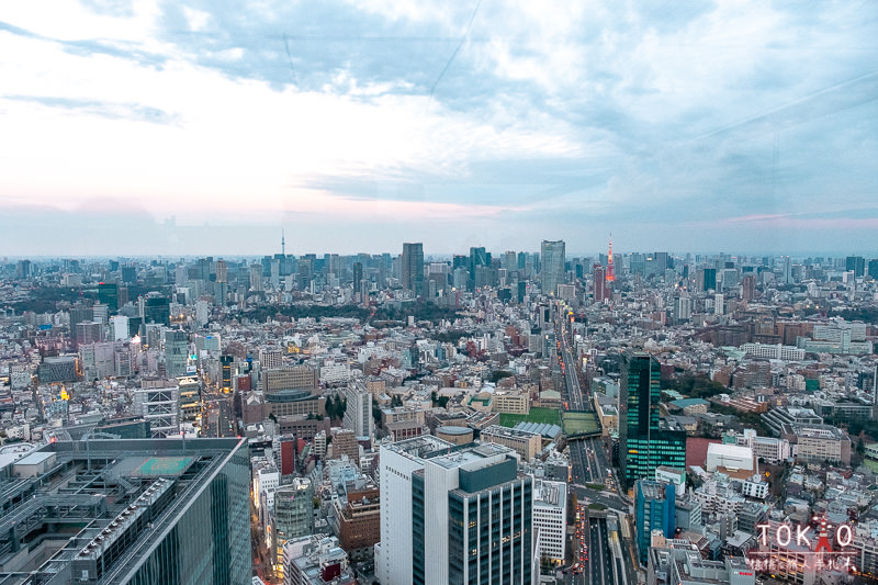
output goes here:
[{"label": "flat rooftop with machinery and green pad on the bottom-left building", "polygon": [[[0,572],[0,583],[44,583],[69,571],[74,560],[104,554],[100,562],[106,582],[123,578],[149,548],[143,544],[165,538],[196,493],[245,446],[245,439],[93,439],[43,446],[0,479],[0,565],[11,567],[14,556],[18,570],[27,563],[38,569]],[[33,477],[14,476],[24,471],[19,465],[34,464],[45,469]],[[148,529],[136,524],[144,515],[150,518]],[[45,562],[43,556],[21,558],[40,533],[66,543],[50,548]],[[114,542],[124,544],[106,552]]]}]

